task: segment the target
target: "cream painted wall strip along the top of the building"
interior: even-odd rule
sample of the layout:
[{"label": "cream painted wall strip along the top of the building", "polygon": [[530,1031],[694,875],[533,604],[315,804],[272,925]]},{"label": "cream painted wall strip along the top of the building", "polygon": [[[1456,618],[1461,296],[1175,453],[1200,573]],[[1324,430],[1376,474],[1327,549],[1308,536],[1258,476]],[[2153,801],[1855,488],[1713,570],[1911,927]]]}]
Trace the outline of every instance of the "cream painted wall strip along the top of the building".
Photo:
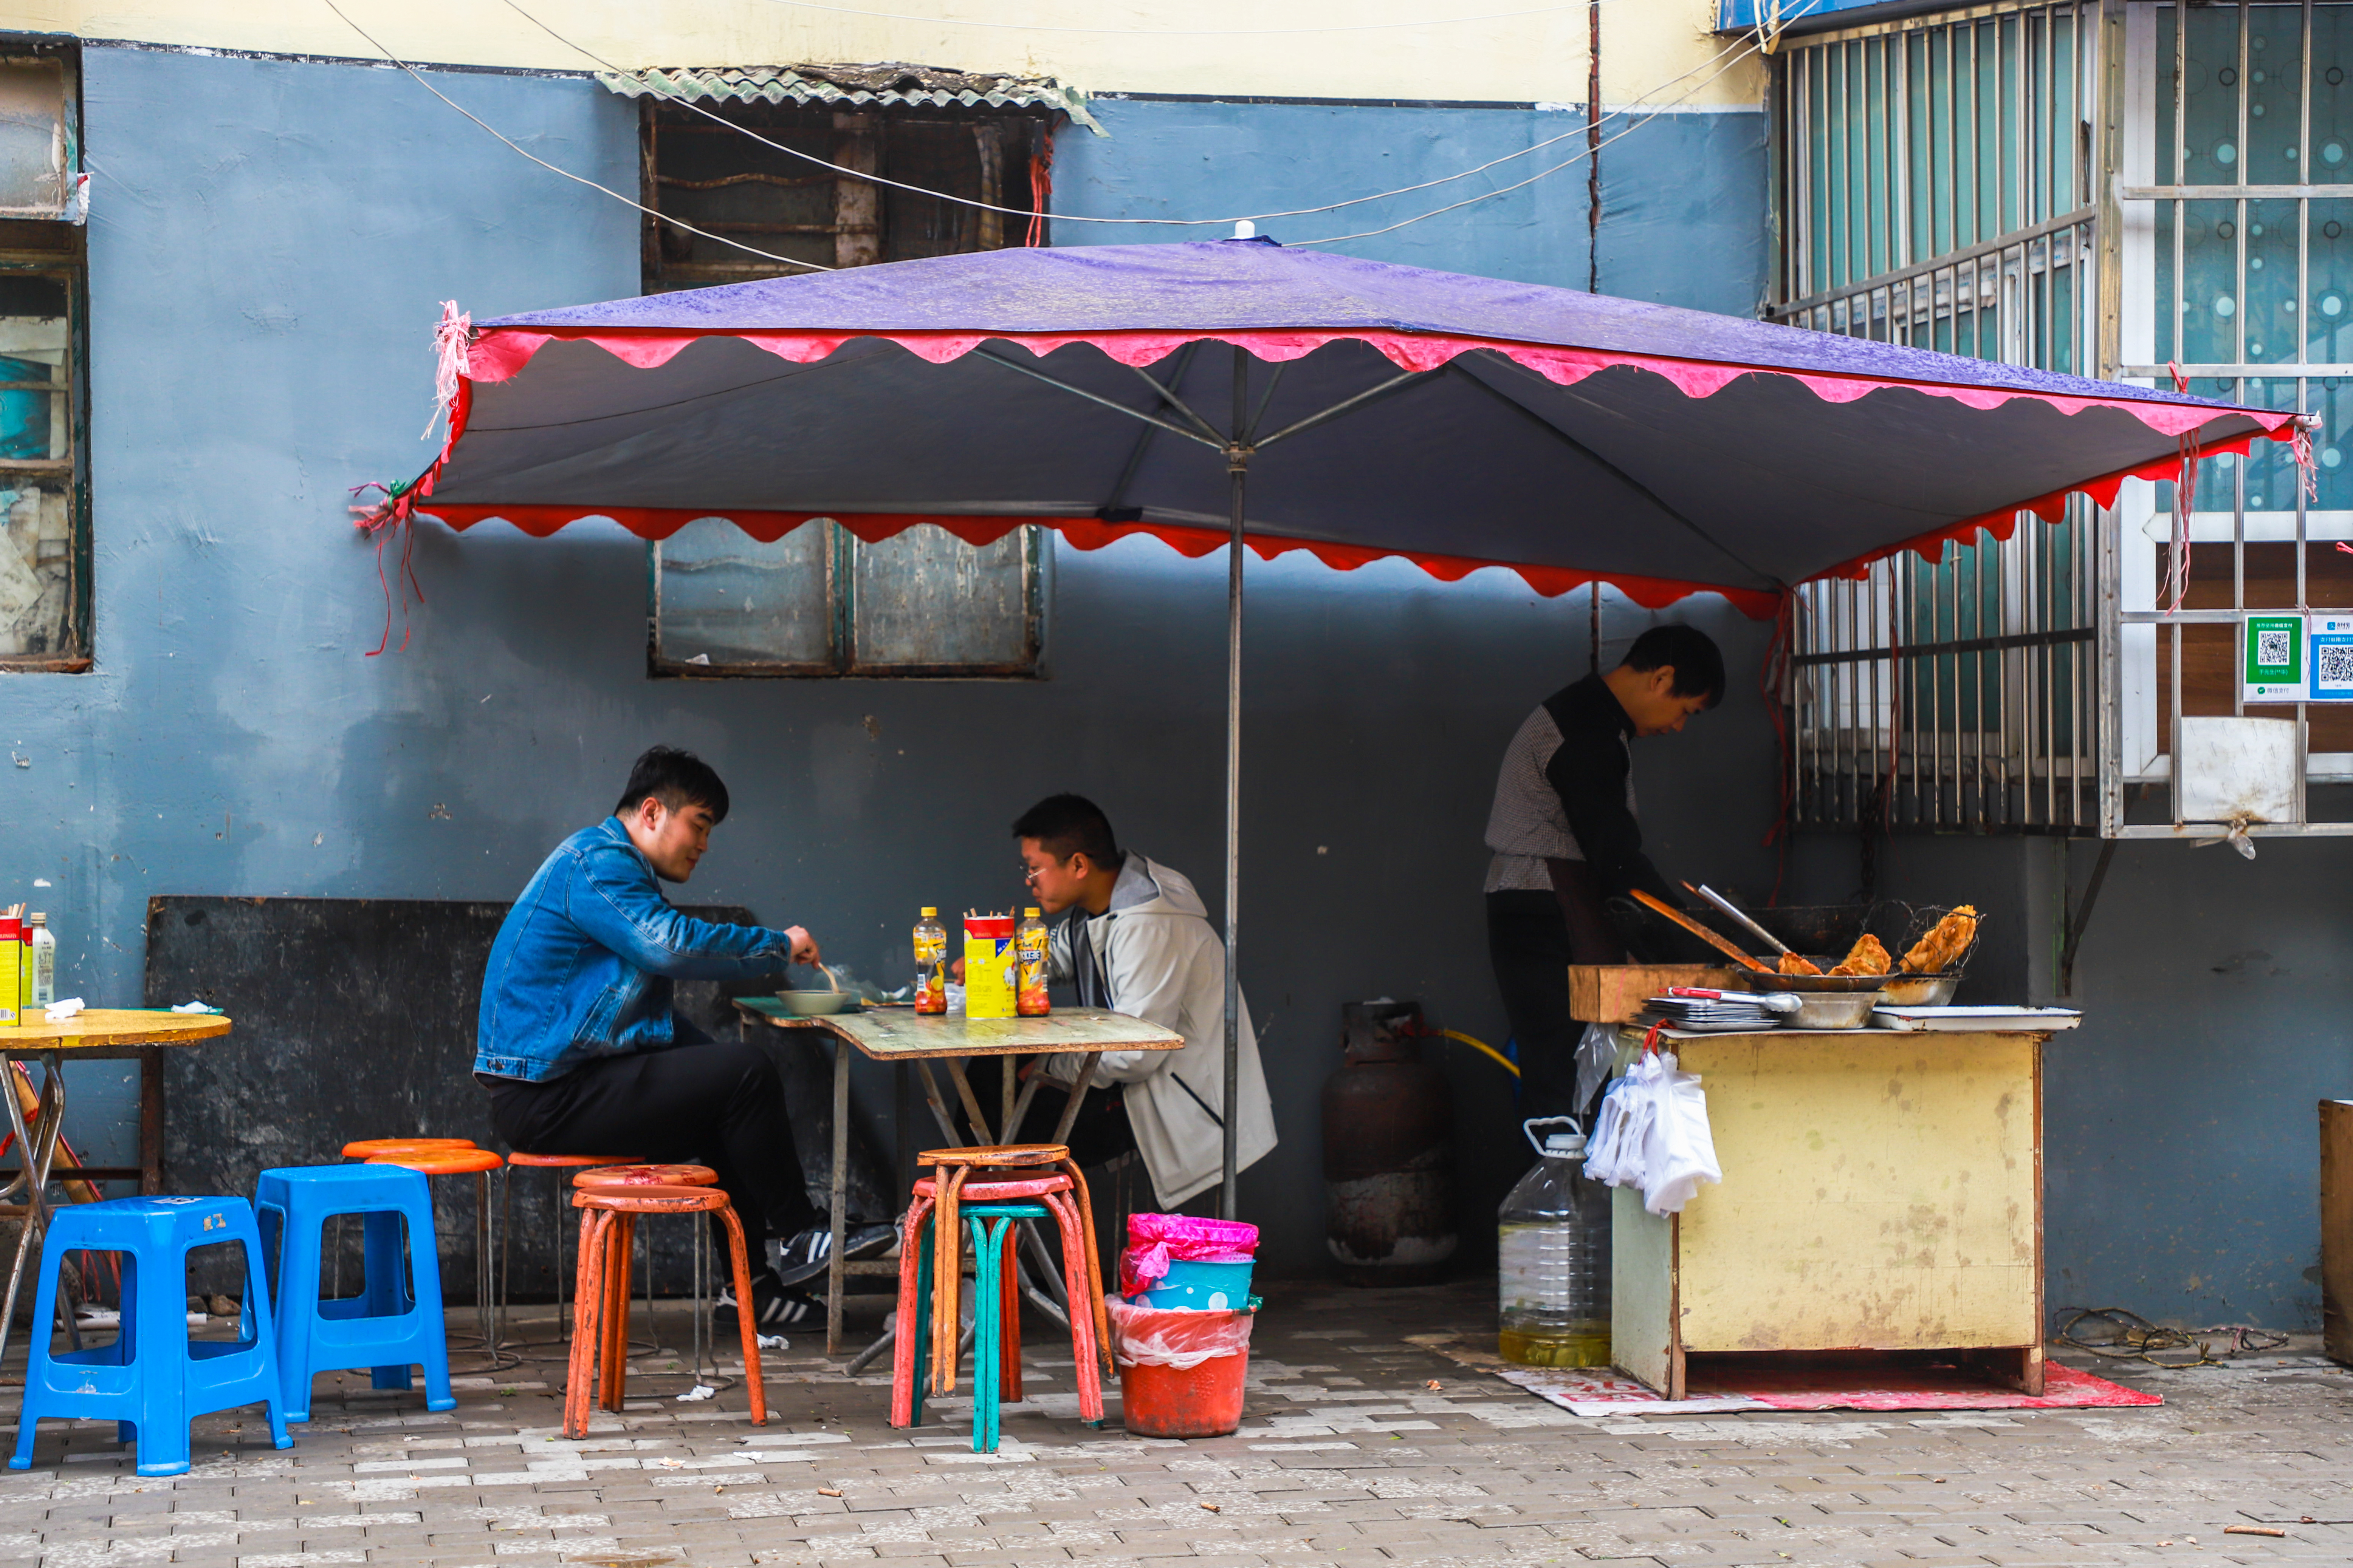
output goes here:
[{"label": "cream painted wall strip along the top of the building", "polygon": [[[339,0],[409,61],[586,71],[922,61],[1040,71],[1087,92],[1318,99],[1586,99],[1586,0]],[[856,14],[866,12],[866,14]],[[962,16],[988,26],[899,21]],[[1518,14],[1513,14],[1518,12]],[[1005,24],[1021,14],[1019,26]],[[1489,21],[1431,24],[1445,16]],[[1753,106],[1753,59],[1708,33],[1715,0],[1602,0],[1602,99]],[[1377,26],[1407,21],[1417,26]],[[47,0],[0,5],[0,28],[99,40],[369,56],[325,0]],[[1711,63],[1713,61],[1713,63]],[[1678,80],[1680,78],[1680,80]],[[1711,80],[1713,78],[1713,80]]]}]

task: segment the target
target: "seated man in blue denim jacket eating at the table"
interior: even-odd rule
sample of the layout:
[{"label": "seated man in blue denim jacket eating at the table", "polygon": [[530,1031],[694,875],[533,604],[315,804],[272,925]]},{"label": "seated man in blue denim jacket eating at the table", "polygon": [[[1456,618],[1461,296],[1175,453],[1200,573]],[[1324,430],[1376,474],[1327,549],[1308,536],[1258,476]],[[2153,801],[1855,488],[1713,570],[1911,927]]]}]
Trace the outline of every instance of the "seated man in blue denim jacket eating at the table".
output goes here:
[{"label": "seated man in blue denim jacket eating at the table", "polygon": [[[685,882],[727,818],[727,785],[692,752],[656,745],[631,769],[621,804],[565,839],[506,912],[482,976],[473,1074],[489,1119],[532,1154],[638,1154],[696,1161],[718,1173],[760,1260],[753,1265],[762,1331],[816,1316],[791,1286],[819,1274],[833,1244],[809,1204],[784,1084],[753,1044],[718,1044],[671,1004],[673,980],[758,980],[814,964],[800,926],[718,926],[671,907],[661,882]],[[859,1227],[845,1251],[889,1244],[889,1227]],[[725,1246],[725,1241],[722,1241]],[[720,1328],[734,1328],[720,1295]]]}]

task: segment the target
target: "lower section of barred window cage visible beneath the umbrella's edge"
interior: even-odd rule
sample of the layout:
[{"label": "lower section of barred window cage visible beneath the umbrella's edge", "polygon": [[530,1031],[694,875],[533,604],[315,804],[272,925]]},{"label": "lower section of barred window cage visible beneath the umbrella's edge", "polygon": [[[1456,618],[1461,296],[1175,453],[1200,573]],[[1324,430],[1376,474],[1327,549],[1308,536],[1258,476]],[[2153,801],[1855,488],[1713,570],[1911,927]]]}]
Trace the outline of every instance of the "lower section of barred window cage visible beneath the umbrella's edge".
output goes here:
[{"label": "lower section of barred window cage visible beneath the umbrella's edge", "polygon": [[1807,583],[1791,628],[1798,825],[2089,832],[2099,813],[2097,527]]}]

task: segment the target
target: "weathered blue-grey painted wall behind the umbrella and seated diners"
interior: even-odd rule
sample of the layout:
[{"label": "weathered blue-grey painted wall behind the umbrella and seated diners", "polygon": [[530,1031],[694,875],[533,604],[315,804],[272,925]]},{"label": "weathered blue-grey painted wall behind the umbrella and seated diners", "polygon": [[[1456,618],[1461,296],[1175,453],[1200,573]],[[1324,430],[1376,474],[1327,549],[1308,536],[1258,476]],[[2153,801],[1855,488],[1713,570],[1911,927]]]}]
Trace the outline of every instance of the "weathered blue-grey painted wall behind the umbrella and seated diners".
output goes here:
[{"label": "weathered blue-grey painted wall behind the umbrella and seated diners", "polygon": [[[0,769],[0,889],[52,879],[35,903],[61,933],[68,992],[139,999],[151,893],[511,898],[654,741],[701,750],[736,795],[689,896],[807,922],[859,971],[899,961],[920,903],[1009,900],[1005,825],[1049,790],[1094,795],[1127,842],[1217,898],[1224,564],[1153,541],[1059,552],[1047,682],[649,682],[645,550],[600,524],[553,541],[419,529],[414,639],[367,658],[384,597],[344,491],[431,454],[414,433],[438,301],[496,315],[631,294],[635,214],[534,169],[393,71],[92,49],[85,80],[99,668],[0,679],[0,738],[26,762]],[[633,188],[626,101],[565,80],[438,85],[541,158]],[[1297,110],[1217,110],[1228,134],[1212,181],[1167,129],[1209,110],[1104,108],[1113,141],[1064,143],[1071,200],[1094,179],[1195,181],[1195,212],[1224,205],[1209,186],[1245,207],[1299,188],[1289,165],[1259,158],[1301,141]],[[1365,113],[1393,118],[1367,134],[1318,120],[1344,143],[1311,181],[1322,193],[1525,136],[1449,110],[1449,139],[1424,139],[1424,110]],[[1704,120],[1711,134],[1732,125]],[[1746,186],[1734,228],[1760,230],[1760,188]],[[1581,223],[1581,181],[1539,190]],[[1426,247],[1442,226],[1405,233]],[[1398,259],[1522,277],[1558,261],[1537,242],[1553,230],[1482,214],[1468,233]],[[1725,282],[1699,270],[1704,249],[1675,244],[1685,270],[1645,289],[1741,308],[1746,261],[1734,252]],[[1421,997],[1504,1041],[1480,832],[1513,726],[1586,668],[1586,602],[1537,599],[1494,571],[1442,585],[1402,564],[1337,574],[1299,557],[1252,562],[1249,583],[1245,985],[1273,1023],[1282,1147],[1242,1197],[1268,1225],[1268,1262],[1297,1272],[1322,1255],[1315,1091],[1339,1056],[1339,1004]],[[1687,614],[1725,637],[1734,689],[1751,691],[1758,628],[1720,599]],[[1612,599],[1612,654],[1647,623]],[[1645,743],[1638,776],[1668,865],[1760,886],[1769,750],[1753,705]],[[461,1072],[471,1041],[445,1053]],[[1478,1260],[1527,1159],[1499,1072],[1461,1056],[1449,1072]],[[127,1159],[122,1070],[92,1065],[75,1084],[73,1135]],[[882,1084],[868,1091],[880,1105]],[[348,1114],[369,1131],[369,1107]]]}]

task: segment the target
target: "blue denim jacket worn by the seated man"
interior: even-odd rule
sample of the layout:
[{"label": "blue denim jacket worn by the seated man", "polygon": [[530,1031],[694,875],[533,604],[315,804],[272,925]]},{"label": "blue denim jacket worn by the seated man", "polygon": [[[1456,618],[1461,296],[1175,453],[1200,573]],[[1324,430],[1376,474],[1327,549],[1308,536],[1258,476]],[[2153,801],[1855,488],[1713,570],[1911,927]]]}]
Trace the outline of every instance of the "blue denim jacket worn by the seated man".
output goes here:
[{"label": "blue denim jacket worn by the seated man", "polygon": [[772,976],[791,950],[784,931],[673,910],[609,816],[565,839],[506,912],[482,973],[473,1070],[536,1084],[598,1056],[701,1044],[671,1011],[671,980]]}]

